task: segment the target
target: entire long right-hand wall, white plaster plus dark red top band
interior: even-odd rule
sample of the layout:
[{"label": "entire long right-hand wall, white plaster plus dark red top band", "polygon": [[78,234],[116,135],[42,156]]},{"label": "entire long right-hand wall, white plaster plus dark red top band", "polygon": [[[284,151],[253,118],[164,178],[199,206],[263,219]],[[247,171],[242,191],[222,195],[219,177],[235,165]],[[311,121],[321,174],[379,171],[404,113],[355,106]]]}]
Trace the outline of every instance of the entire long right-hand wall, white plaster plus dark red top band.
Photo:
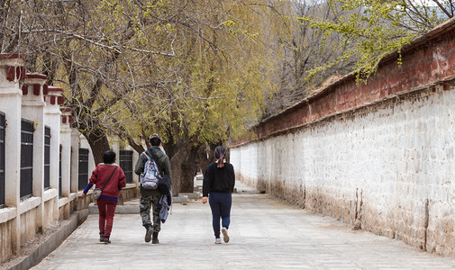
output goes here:
[{"label": "entire long right-hand wall, white plaster plus dark red top band", "polygon": [[[392,57],[393,58],[393,57]],[[356,228],[455,255],[455,21],[346,76],[233,145],[247,184]]]}]

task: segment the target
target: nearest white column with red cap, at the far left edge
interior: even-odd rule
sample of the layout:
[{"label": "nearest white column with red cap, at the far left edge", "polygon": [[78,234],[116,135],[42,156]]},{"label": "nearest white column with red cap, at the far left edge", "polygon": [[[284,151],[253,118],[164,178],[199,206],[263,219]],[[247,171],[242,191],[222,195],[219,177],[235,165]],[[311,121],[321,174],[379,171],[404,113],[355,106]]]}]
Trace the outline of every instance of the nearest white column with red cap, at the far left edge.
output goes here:
[{"label": "nearest white column with red cap, at the far left edge", "polygon": [[0,111],[5,112],[5,205],[14,208],[11,242],[14,254],[21,250],[21,105],[19,80],[25,75],[24,59],[17,54],[0,54]]}]

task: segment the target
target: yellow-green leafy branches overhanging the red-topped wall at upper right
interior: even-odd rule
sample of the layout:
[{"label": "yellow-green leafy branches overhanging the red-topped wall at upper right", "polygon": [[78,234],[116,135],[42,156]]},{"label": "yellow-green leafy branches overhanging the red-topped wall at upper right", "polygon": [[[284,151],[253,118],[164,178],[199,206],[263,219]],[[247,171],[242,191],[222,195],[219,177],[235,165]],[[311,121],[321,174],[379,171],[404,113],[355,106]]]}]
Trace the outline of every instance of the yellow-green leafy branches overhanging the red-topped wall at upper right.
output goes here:
[{"label": "yellow-green leafy branches overhanging the red-topped wall at upper right", "polygon": [[[417,23],[415,17],[409,15],[412,11],[407,0],[329,0],[329,4],[333,14],[331,20],[322,20],[317,16],[297,18],[299,23],[321,31],[324,39],[330,35],[338,35],[340,46],[344,49],[337,59],[309,70],[310,77],[355,57],[357,79],[366,82],[368,77],[376,72],[381,58],[396,51],[397,62],[400,64],[400,49],[416,35],[429,31],[443,20],[437,16],[434,8],[430,8],[431,12],[425,13],[426,23]],[[413,8],[425,11],[429,9],[428,6]]]}]

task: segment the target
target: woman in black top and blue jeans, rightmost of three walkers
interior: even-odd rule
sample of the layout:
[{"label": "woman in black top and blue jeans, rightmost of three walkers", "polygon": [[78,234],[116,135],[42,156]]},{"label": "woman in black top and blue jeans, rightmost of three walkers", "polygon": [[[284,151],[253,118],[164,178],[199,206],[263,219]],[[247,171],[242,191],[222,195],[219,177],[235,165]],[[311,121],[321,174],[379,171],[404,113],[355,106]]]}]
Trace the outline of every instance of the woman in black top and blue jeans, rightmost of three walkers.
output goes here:
[{"label": "woman in black top and blue jeans, rightmost of three walkers", "polygon": [[224,160],[226,148],[218,146],[214,149],[216,162],[209,164],[205,170],[202,185],[202,202],[209,201],[212,209],[212,227],[214,243],[221,244],[220,219],[222,220],[223,241],[229,242],[228,229],[231,223],[232,192],[235,185],[234,168]]}]

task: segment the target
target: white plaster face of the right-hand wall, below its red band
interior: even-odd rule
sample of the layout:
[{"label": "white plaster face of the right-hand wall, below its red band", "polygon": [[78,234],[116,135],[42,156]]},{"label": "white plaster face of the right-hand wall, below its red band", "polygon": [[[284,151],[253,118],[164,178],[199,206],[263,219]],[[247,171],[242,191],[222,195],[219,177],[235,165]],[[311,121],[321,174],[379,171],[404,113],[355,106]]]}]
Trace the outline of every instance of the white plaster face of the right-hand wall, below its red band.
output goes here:
[{"label": "white plaster face of the right-hand wall, below its red band", "polygon": [[454,146],[455,91],[445,91],[232,148],[231,162],[241,180],[310,211],[348,223],[357,213],[363,229],[453,254]]}]

